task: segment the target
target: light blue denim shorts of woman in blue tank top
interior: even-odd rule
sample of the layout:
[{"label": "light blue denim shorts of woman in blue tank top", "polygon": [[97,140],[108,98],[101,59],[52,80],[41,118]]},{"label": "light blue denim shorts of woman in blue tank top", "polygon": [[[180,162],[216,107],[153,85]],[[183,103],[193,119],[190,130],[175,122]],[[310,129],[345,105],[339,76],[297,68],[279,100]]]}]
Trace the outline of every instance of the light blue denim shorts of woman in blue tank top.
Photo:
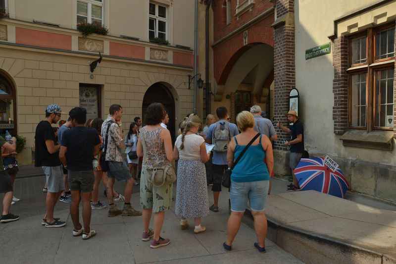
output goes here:
[{"label": "light blue denim shorts of woman in blue tank top", "polygon": [[251,211],[264,211],[269,181],[231,182],[231,211],[245,212],[247,201]]}]

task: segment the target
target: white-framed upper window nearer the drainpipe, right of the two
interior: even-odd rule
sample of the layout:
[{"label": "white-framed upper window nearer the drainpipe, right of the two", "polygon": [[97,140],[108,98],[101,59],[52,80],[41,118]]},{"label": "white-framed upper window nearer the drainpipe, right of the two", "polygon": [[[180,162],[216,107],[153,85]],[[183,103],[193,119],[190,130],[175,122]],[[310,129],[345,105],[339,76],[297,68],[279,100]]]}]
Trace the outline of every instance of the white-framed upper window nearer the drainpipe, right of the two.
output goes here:
[{"label": "white-framed upper window nearer the drainpipe, right of the two", "polygon": [[167,36],[167,10],[166,6],[150,3],[148,14],[148,38],[158,38],[166,41]]}]

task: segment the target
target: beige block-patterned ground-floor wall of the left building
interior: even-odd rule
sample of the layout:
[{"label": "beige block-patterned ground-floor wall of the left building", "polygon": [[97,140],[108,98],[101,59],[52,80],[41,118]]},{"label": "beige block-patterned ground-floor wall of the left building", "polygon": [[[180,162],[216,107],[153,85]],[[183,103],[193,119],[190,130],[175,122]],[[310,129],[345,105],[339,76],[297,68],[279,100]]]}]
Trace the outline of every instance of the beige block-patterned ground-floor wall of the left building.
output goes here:
[{"label": "beige block-patterned ground-floor wall of the left building", "polygon": [[[193,110],[193,90],[186,84],[190,70],[103,59],[90,78],[89,56],[0,48],[0,69],[16,85],[18,134],[26,137],[25,152],[34,146],[37,123],[45,118],[49,104],[59,104],[63,112],[79,106],[79,84],[101,84],[102,117],[111,104],[123,106],[125,123],[142,116],[142,103],[148,87],[156,82],[170,84],[175,95],[176,119]],[[66,117],[66,116],[65,116]],[[64,117],[64,118],[65,118]],[[176,125],[179,122],[176,121]],[[124,133],[128,126],[124,126]]]}]

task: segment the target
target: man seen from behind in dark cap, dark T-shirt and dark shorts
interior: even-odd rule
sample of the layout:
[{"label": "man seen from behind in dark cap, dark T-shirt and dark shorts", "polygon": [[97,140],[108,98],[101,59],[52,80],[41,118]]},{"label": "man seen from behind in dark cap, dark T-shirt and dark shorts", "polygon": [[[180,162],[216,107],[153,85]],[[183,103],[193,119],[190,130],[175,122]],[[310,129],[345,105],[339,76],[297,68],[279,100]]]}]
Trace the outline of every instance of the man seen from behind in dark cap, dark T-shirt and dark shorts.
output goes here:
[{"label": "man seen from behind in dark cap, dark T-shirt and dark shorts", "polygon": [[[72,127],[62,136],[59,158],[68,170],[71,190],[70,215],[73,220],[73,236],[83,235],[89,239],[96,235],[91,224],[91,192],[94,190],[95,176],[92,170],[93,157],[99,154],[100,139],[94,128],[85,127],[87,110],[74,107],[69,112]],[[79,220],[80,198],[83,202],[84,228]]]}]

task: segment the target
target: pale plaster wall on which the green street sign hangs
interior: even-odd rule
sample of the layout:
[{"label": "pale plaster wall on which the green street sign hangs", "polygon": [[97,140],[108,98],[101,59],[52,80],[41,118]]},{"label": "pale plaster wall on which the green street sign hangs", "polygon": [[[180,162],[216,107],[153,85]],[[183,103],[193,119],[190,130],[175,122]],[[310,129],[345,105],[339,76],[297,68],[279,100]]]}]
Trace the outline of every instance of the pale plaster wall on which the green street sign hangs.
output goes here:
[{"label": "pale plaster wall on which the green street sign hangs", "polygon": [[[296,0],[296,88],[300,92],[306,147],[311,153],[396,164],[393,152],[344,147],[333,133],[333,53],[305,60],[305,50],[331,42],[334,20],[376,0]],[[331,12],[329,12],[331,10]]]}]

